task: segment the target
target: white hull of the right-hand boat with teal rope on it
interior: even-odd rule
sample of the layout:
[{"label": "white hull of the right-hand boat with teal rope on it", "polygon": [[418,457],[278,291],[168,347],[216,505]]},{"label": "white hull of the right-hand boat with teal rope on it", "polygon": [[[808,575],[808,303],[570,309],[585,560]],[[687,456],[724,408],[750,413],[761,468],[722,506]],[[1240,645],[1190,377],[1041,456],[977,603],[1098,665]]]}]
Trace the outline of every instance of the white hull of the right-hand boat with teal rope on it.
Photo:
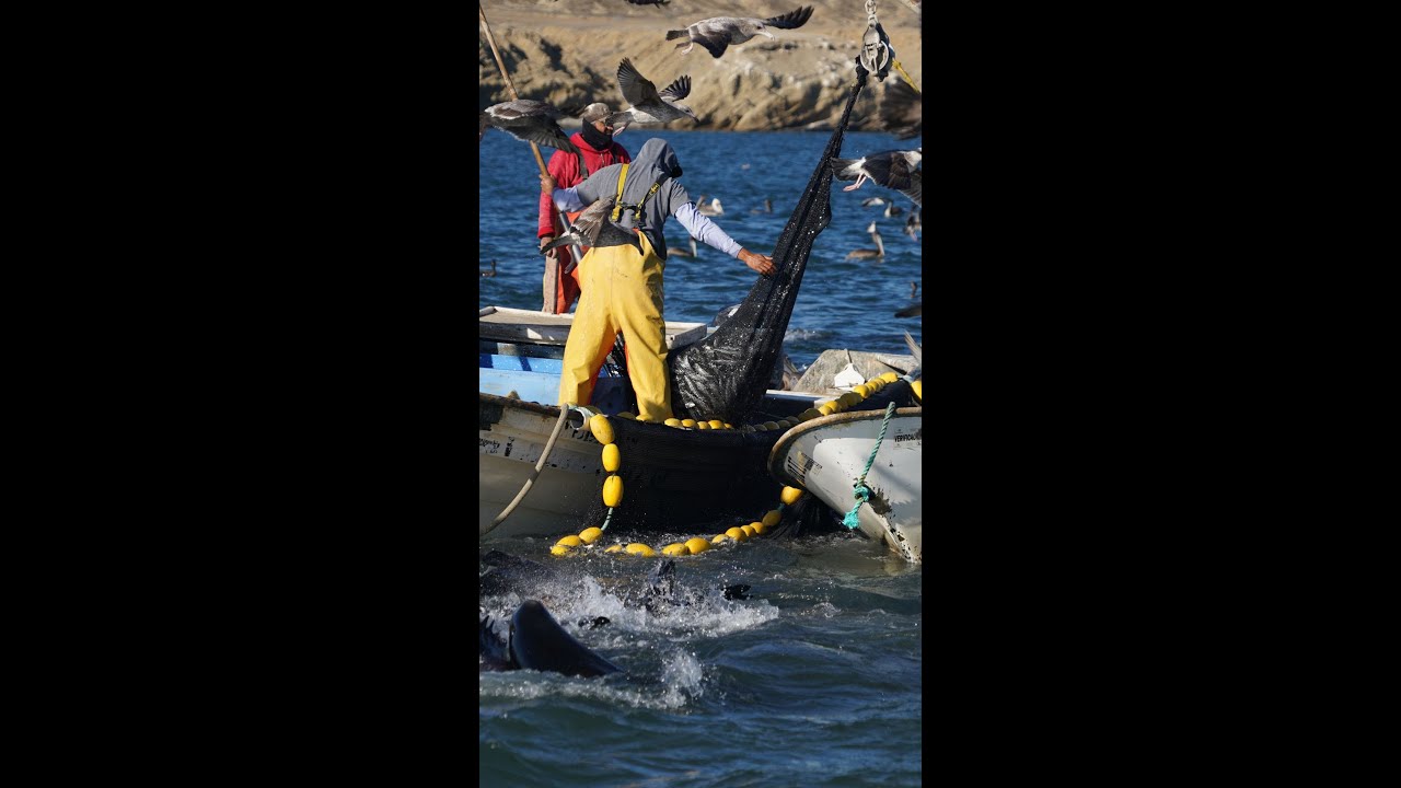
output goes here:
[{"label": "white hull of the right-hand boat with teal rope on it", "polygon": [[[773,444],[769,473],[846,515],[884,421],[884,411],[859,411],[803,422]],[[923,561],[922,470],[923,408],[897,408],[866,474],[870,501],[856,516],[862,533],[915,564]]]}]

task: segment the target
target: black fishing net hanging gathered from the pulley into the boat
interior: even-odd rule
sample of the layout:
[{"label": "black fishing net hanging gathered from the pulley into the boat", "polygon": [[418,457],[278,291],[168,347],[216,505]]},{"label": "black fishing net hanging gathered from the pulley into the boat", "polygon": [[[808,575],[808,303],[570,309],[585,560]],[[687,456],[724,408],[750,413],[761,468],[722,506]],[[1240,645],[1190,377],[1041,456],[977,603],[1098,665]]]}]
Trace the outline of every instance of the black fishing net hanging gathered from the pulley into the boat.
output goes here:
[{"label": "black fishing net hanging gathered from the pulley into the boat", "polygon": [[671,366],[671,409],[677,418],[750,423],[769,376],[783,352],[797,289],[813,252],[813,243],[832,219],[829,163],[842,151],[842,136],[852,107],[866,87],[866,69],[857,60],[856,84],[846,100],[842,119],[827,142],[822,158],[789,216],[773,248],[773,276],[761,276],[729,320],[705,339],[675,351]]}]

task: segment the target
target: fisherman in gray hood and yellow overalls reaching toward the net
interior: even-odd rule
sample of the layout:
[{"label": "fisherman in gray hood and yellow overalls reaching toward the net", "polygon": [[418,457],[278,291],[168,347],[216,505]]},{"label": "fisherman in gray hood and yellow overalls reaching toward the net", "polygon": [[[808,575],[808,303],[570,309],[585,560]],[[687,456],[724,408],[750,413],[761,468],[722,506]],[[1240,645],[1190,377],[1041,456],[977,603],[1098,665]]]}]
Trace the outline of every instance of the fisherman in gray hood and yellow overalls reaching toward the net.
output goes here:
[{"label": "fisherman in gray hood and yellow overalls reaching toward the net", "polygon": [[639,421],[671,418],[661,318],[661,273],[667,266],[667,238],[661,227],[668,216],[675,216],[695,240],[738,258],[765,276],[773,275],[772,257],[741,248],[696,212],[691,196],[677,182],[679,177],[675,151],[657,137],[647,140],[630,164],[604,167],[570,189],[556,189],[553,178],[541,175],[541,192],[552,195],[563,210],[583,210],[594,201],[615,198],[612,220],[637,233],[640,241],[640,251],[632,245],[593,247],[579,262],[583,293],[565,344],[560,405],[591,401],[598,370],[621,332]]}]

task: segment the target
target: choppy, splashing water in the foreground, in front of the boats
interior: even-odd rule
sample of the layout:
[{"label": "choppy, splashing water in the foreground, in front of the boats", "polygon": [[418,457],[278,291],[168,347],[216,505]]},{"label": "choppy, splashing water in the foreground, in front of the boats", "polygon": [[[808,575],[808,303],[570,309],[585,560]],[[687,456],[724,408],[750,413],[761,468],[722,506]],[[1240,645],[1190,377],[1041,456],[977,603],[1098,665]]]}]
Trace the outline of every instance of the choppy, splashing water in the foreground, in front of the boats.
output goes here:
[{"label": "choppy, splashing water in the foreground, in front of the boats", "polygon": [[[549,544],[492,547],[552,561]],[[546,607],[626,673],[481,673],[482,785],[920,784],[919,568],[860,536],[757,537],[678,558],[678,586],[700,602],[647,613],[622,599],[656,559],[559,564],[581,579]],[[715,590],[730,583],[751,597]],[[509,617],[521,600],[485,604]],[[611,621],[577,627],[595,616]]]}]

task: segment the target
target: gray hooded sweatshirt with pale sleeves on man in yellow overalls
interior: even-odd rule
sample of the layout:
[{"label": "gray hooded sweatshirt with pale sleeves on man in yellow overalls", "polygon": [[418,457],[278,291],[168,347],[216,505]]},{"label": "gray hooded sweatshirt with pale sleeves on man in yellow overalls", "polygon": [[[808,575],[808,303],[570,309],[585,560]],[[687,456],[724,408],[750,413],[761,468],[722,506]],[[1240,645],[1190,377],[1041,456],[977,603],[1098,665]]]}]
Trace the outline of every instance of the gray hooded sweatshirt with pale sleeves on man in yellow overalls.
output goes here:
[{"label": "gray hooded sweatshirt with pale sleeves on man in yellow overalls", "polygon": [[[555,205],[563,210],[583,210],[584,206],[593,205],[598,199],[616,195],[619,170],[622,170],[622,164],[609,164],[577,186],[555,189]],[[647,198],[647,202],[642,206],[644,220],[643,233],[647,234],[647,241],[651,243],[651,248],[656,250],[657,257],[667,259],[667,237],[663,234],[661,227],[668,216],[675,216],[677,222],[681,222],[681,226],[691,233],[692,238],[720,250],[730,257],[740,257],[743,247],[727,236],[724,230],[720,230],[713,222],[696,212],[696,206],[686,193],[686,189],[677,181],[681,177],[681,163],[677,160],[677,151],[663,139],[651,137],[647,140],[642,146],[642,150],[637,151],[637,157],[632,160],[632,164],[628,167],[628,178],[622,185],[622,202],[637,205],[663,174],[668,175],[667,179],[661,182],[657,193]],[[633,216],[632,210],[623,209],[618,224],[632,229],[635,226]]]}]

